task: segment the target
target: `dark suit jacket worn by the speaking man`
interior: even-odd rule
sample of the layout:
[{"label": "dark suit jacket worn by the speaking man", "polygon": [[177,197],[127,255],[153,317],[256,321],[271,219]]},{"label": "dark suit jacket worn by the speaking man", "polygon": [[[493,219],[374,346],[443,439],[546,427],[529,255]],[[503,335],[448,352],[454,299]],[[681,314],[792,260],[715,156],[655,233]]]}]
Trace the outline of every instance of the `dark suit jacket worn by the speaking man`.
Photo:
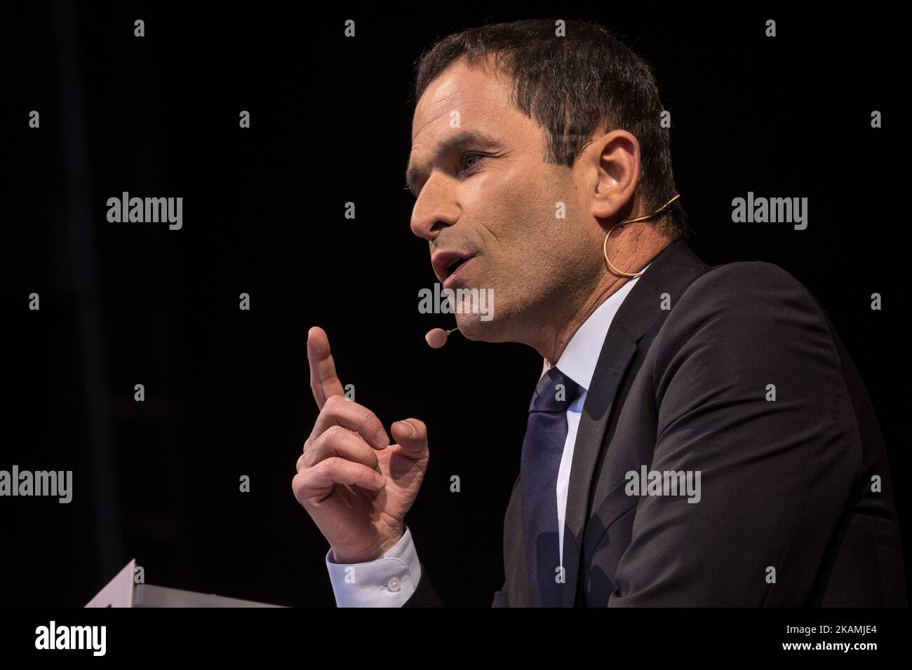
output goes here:
[{"label": "dark suit jacket worn by the speaking man", "polygon": [[[700,502],[628,495],[644,465],[699,470]],[[530,603],[520,490],[495,607]],[[892,491],[874,408],[814,296],[772,263],[710,267],[672,242],[617,311],[586,396],[563,604],[905,605]],[[442,605],[421,568],[406,606]]]}]

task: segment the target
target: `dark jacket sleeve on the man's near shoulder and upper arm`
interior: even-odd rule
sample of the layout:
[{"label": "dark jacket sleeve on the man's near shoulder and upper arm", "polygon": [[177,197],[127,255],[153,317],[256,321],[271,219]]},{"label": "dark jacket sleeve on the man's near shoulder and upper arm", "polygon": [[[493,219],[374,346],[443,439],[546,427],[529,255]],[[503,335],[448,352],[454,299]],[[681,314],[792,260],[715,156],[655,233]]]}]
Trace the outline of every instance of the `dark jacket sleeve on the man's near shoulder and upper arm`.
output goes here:
[{"label": "dark jacket sleeve on the man's near shoulder and upper arm", "polygon": [[653,347],[643,465],[692,486],[631,493],[608,606],[807,604],[861,463],[823,312],[778,266],[731,263],[689,286]]}]

